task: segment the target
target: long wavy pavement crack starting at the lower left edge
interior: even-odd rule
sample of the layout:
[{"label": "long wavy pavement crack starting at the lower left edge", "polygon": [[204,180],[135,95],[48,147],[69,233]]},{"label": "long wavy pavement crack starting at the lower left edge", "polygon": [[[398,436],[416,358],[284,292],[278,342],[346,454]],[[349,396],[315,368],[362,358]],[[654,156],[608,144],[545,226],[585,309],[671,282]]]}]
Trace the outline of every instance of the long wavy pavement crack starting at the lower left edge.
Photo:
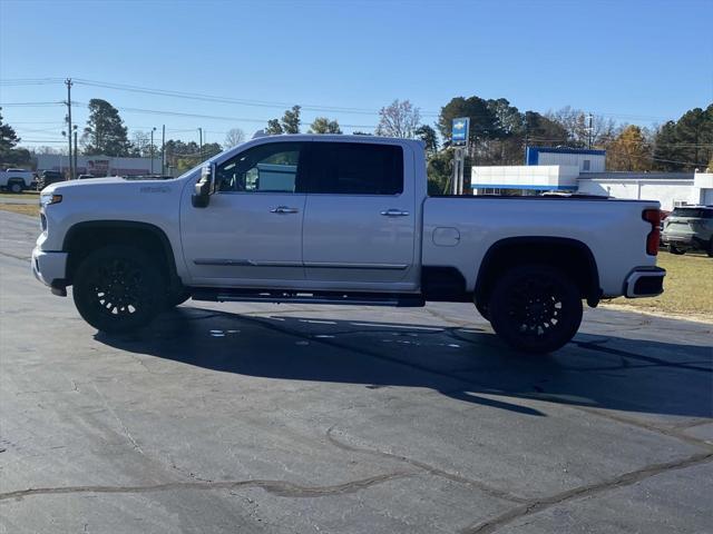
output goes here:
[{"label": "long wavy pavement crack starting at the lower left edge", "polygon": [[11,498],[25,498],[36,495],[68,495],[84,493],[153,493],[168,492],[174,490],[235,490],[240,487],[258,487],[267,493],[280,497],[323,497],[328,495],[344,495],[365,490],[377,484],[383,484],[397,478],[413,476],[412,472],[394,472],[383,475],[370,476],[358,481],[345,482],[332,486],[303,486],[286,481],[221,481],[221,482],[167,482],[163,484],[137,485],[137,486],[65,486],[65,487],[35,487],[29,490],[18,490],[14,492],[0,493],[0,501]]}]

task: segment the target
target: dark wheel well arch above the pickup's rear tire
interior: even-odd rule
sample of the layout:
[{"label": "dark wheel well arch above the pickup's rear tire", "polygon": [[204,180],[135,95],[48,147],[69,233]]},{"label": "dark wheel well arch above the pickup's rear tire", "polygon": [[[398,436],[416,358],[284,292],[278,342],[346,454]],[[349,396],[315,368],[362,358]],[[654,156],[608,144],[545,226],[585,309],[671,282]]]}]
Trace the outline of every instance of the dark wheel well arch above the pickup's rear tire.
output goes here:
[{"label": "dark wheel well arch above the pickup's rear tire", "polygon": [[568,274],[582,298],[596,307],[602,297],[599,273],[589,247],[559,237],[514,237],[494,244],[486,253],[476,280],[475,300],[487,307],[495,280],[516,265],[551,265]]}]

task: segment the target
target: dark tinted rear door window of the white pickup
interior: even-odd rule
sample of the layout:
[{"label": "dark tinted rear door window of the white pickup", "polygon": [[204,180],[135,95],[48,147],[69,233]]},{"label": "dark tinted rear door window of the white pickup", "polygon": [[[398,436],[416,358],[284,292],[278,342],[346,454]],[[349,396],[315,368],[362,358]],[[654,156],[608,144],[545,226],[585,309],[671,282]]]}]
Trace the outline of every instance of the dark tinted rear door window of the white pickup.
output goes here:
[{"label": "dark tinted rear door window of the white pickup", "polygon": [[403,149],[394,145],[315,142],[311,192],[399,195],[403,192]]}]

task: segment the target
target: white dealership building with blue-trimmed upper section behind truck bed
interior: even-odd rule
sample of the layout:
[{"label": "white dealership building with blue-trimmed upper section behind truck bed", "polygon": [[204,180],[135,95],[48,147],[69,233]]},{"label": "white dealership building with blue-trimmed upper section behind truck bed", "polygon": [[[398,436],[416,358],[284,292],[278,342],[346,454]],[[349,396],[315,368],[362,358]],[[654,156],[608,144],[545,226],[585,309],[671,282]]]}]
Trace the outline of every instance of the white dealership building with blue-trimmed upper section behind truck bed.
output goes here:
[{"label": "white dealership building with blue-trimmed upper section behind truck bed", "polygon": [[578,192],[658,200],[662,209],[713,205],[711,172],[607,172],[606,150],[528,147],[522,166],[471,169],[473,195]]}]

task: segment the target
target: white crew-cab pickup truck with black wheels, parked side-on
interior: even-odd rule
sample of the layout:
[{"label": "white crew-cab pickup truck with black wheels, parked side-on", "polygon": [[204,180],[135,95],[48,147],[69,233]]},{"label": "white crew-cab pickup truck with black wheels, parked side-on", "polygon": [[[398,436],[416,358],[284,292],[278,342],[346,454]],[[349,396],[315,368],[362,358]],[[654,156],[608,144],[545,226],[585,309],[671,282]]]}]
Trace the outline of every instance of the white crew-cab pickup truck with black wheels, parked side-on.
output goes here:
[{"label": "white crew-cab pickup truck with black wheels, parked side-on", "polygon": [[41,194],[32,269],[105,332],[188,297],[469,301],[517,349],[565,345],[583,300],[663,291],[656,201],[428,196],[420,141],[272,136],[165,181]]}]

